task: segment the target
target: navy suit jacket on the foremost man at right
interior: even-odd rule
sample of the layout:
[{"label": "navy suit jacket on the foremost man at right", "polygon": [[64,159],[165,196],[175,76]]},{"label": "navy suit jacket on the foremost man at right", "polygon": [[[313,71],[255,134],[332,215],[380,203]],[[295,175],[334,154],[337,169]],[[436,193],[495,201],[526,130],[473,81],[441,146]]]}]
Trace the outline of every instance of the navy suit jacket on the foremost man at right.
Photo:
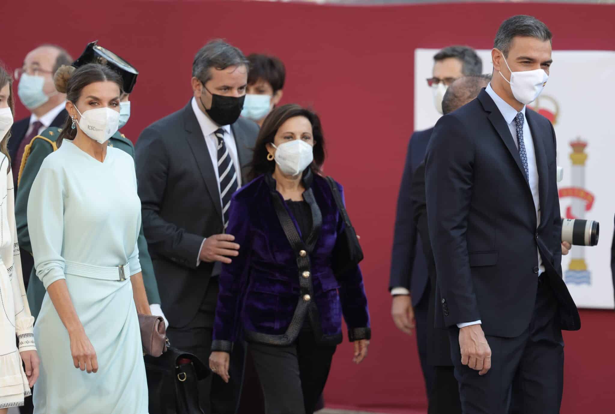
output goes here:
[{"label": "navy suit jacket on the foremost man at right", "polygon": [[559,304],[561,328],[581,327],[561,278],[555,132],[529,108],[526,120],[536,150],[539,223],[517,145],[484,89],[435,125],[425,180],[439,327],[480,319],[486,335],[523,333],[538,289],[537,247],[546,268],[541,277]]}]

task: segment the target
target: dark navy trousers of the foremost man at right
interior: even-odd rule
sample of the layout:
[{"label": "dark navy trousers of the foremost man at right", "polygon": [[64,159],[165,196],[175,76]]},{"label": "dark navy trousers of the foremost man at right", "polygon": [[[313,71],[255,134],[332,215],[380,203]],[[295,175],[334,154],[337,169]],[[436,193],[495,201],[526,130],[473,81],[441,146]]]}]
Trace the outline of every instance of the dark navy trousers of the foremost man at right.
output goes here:
[{"label": "dark navy trousers of the foremost man at right", "polygon": [[461,364],[459,329],[449,331],[464,414],[560,412],[564,343],[557,301],[545,276],[539,277],[534,313],[525,332],[516,338],[486,336],[491,348],[491,370],[486,375]]}]

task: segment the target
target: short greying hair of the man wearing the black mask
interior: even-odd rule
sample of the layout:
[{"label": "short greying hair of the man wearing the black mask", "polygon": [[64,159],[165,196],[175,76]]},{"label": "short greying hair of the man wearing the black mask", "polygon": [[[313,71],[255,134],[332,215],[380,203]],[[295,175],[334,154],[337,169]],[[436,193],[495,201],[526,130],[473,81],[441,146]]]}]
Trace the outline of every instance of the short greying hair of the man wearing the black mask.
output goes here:
[{"label": "short greying hair of the man wearing the black mask", "polygon": [[224,70],[230,66],[245,66],[249,70],[250,62],[237,47],[221,39],[215,39],[207,42],[194,55],[192,76],[205,84],[212,79],[210,68]]}]

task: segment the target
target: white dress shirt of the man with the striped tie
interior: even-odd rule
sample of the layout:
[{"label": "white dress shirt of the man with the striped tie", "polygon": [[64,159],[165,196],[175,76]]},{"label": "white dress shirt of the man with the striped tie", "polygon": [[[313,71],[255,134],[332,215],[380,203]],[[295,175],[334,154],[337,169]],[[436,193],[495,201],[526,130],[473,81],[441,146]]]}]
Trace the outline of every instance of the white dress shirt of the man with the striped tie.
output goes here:
[{"label": "white dress shirt of the man with the striped tie", "polygon": [[[237,172],[237,188],[241,186],[241,169],[239,165],[239,156],[237,155],[237,144],[235,143],[235,137],[232,133],[231,125],[224,125],[220,127],[215,124],[207,115],[200,110],[199,104],[196,102],[196,98],[192,97],[192,111],[194,111],[194,115],[196,115],[197,121],[199,121],[200,130],[203,133],[203,137],[205,137],[205,143],[207,144],[207,149],[209,150],[209,156],[212,158],[213,172],[216,175],[216,181],[218,182],[218,194],[220,191],[220,174],[218,173],[218,138],[214,135],[216,130],[222,128],[224,129],[224,145],[229,151],[229,156],[231,156],[232,164],[235,167],[235,171]],[[220,196],[220,205],[222,205],[222,196]],[[220,217],[220,221],[224,222],[224,218]],[[203,243],[205,239],[203,239]],[[201,249],[203,244],[201,243]],[[200,250],[199,250],[200,255]],[[197,257],[197,266],[200,265],[200,258]]]}]

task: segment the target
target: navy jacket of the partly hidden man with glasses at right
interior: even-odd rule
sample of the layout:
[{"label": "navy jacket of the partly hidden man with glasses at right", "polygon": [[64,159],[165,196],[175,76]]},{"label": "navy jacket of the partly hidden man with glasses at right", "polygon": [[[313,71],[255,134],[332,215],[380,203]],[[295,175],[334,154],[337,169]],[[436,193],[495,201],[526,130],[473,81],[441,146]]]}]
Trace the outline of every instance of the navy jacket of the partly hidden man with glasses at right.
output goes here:
[{"label": "navy jacket of the partly hidden man with glasses at right", "polygon": [[406,164],[403,167],[402,185],[397,197],[395,216],[395,235],[391,258],[391,279],[389,289],[405,287],[412,295],[412,306],[416,306],[426,290],[427,263],[423,254],[421,239],[413,220],[413,207],[410,197],[412,175],[423,162],[429,138],[434,129],[416,131],[410,137]]}]

